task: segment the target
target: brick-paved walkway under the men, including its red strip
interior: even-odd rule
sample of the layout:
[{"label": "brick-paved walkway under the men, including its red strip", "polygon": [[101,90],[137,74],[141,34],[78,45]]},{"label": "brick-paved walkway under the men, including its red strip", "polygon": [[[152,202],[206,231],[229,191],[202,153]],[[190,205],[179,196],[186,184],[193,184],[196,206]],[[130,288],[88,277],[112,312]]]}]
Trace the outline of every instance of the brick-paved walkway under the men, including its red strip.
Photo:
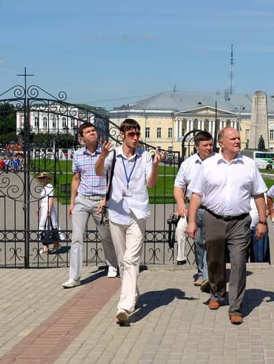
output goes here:
[{"label": "brick-paved walkway under the men, including its red strip", "polygon": [[115,323],[119,278],[84,268],[84,284],[62,289],[66,268],[1,270],[0,363],[274,364],[274,268],[249,265],[245,321],[233,326],[227,304],[206,306],[195,270],[140,274],[139,309]]}]

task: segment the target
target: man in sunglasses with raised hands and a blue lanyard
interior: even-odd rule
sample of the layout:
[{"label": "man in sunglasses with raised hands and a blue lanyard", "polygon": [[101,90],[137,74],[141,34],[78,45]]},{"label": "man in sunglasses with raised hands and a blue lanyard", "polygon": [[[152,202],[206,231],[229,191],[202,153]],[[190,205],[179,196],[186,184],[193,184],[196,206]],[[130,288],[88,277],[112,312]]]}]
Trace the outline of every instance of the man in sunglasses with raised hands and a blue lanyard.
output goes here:
[{"label": "man in sunglasses with raised hands and a blue lanyard", "polygon": [[[126,322],[138,300],[137,277],[145,224],[150,216],[147,187],[154,187],[158,179],[158,164],[166,152],[155,157],[138,148],[140,125],[134,119],[125,119],[120,127],[122,146],[116,148],[116,164],[108,201],[110,232],[121,274],[121,296],[116,320]],[[103,175],[112,165],[111,143],[101,145],[95,171]]]}]

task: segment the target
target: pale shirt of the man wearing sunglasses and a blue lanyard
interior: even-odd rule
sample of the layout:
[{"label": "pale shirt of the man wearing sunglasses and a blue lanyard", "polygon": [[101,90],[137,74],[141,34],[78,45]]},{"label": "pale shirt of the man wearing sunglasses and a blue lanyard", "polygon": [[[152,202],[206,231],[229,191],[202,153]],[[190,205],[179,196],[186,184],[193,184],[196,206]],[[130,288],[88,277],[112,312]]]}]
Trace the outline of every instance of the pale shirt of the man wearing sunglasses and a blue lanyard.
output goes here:
[{"label": "pale shirt of the man wearing sunglasses and a blue lanyard", "polygon": [[[123,190],[127,190],[127,178],[123,166],[123,160],[127,177],[136,164],[129,181],[129,190],[132,196],[123,196]],[[110,170],[113,159],[113,152],[105,159],[105,169]],[[152,170],[152,157],[149,152],[136,149],[135,154],[128,158],[123,154],[120,146],[116,149],[116,164],[112,179],[110,199],[108,200],[110,221],[116,224],[129,224],[132,213],[137,219],[147,219],[150,216],[149,195],[147,193],[147,179]]]}]

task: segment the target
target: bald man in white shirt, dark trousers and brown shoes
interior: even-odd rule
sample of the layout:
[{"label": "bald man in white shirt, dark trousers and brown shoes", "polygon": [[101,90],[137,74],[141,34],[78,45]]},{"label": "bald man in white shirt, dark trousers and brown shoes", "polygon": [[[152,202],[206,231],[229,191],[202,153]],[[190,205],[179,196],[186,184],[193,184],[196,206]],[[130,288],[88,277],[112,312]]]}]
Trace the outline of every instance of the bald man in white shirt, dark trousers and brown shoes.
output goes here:
[{"label": "bald man in white shirt, dark trousers and brown shoes", "polygon": [[257,238],[266,233],[266,185],[255,162],[240,154],[240,134],[225,127],[219,132],[221,153],[203,161],[195,181],[190,183],[192,198],[188,210],[188,236],[197,233],[197,210],[204,198],[203,236],[206,240],[209,309],[219,309],[225,299],[225,249],[229,250],[229,318],[242,324],[242,300],[245,295],[246,261],[251,239],[250,200],[254,197],[259,213]]}]

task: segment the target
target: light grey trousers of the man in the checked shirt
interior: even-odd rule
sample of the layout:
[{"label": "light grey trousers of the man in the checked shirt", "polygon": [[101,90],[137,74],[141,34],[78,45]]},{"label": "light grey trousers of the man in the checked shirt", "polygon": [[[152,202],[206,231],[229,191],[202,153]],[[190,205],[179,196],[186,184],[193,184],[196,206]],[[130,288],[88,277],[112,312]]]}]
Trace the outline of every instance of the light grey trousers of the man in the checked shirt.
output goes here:
[{"label": "light grey trousers of the man in the checked shirt", "polygon": [[106,263],[117,267],[117,259],[110,230],[100,225],[101,214],[97,213],[100,202],[101,200],[88,200],[88,198],[83,198],[79,195],[75,198],[75,206],[72,213],[73,235],[71,239],[71,264],[69,267],[69,278],[71,279],[78,280],[82,274],[83,241],[90,215],[97,226]]}]

